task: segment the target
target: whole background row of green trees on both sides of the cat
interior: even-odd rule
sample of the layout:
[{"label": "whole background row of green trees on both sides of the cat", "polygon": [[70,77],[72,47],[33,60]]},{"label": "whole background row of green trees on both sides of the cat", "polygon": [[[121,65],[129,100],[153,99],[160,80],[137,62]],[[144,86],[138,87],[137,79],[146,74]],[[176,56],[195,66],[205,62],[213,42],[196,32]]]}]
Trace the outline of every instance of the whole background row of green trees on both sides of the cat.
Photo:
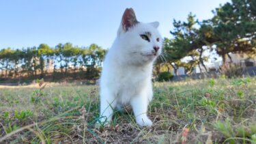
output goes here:
[{"label": "whole background row of green trees on both sides of the cat", "polygon": [[[207,72],[205,61],[209,57],[204,55],[205,51],[215,52],[222,57],[223,63],[227,59],[232,61],[230,53],[246,53],[255,57],[256,1],[232,0],[212,12],[214,16],[208,20],[199,21],[192,13],[184,22],[173,20],[171,38],[165,38],[163,53],[155,63],[155,76],[171,70],[177,74],[179,67],[184,67],[187,74],[192,73],[196,66]],[[3,48],[0,51],[0,76],[42,78],[49,74],[72,74],[74,77],[96,79],[105,53],[106,50],[97,44],[89,47],[66,43],[57,44],[55,48],[47,44],[16,50]]]}]

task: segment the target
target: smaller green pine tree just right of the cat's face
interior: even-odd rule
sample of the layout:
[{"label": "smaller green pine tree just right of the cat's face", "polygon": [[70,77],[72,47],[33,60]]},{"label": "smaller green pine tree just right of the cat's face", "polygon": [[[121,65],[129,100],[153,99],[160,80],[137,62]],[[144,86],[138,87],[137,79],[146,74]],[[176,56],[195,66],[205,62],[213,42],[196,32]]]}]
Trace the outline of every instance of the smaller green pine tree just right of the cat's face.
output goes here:
[{"label": "smaller green pine tree just right of the cat's face", "polygon": [[[191,13],[188,14],[187,22],[173,20],[174,29],[170,31],[173,39],[165,38],[163,47],[167,53],[167,61],[173,67],[176,75],[180,66],[186,68],[188,73],[191,73],[195,66],[199,66],[201,70],[201,65],[207,71],[204,64],[207,58],[203,57],[203,46],[208,44],[200,37],[202,31],[197,28],[200,26],[199,24],[199,21],[195,20],[195,16]],[[186,57],[186,61],[182,61],[184,57]]]}]

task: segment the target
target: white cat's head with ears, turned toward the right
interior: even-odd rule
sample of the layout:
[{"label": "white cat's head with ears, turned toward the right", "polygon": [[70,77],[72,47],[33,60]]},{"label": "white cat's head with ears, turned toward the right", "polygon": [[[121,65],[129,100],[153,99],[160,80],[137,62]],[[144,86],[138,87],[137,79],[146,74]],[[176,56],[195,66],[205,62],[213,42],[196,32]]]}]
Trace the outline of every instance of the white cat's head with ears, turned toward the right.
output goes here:
[{"label": "white cat's head with ears, turned toward the right", "polygon": [[154,61],[162,51],[162,38],[158,32],[158,22],[141,23],[132,8],[126,9],[117,31],[117,39],[122,51],[132,61]]}]

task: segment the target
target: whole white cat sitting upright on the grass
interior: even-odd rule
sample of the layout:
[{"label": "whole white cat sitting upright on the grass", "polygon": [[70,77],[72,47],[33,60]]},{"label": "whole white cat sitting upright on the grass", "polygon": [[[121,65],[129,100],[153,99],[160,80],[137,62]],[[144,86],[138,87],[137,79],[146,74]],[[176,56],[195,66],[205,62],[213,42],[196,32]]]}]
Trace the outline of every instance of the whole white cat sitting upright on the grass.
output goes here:
[{"label": "whole white cat sitting upright on the grass", "polygon": [[109,123],[113,109],[132,106],[139,126],[152,126],[147,106],[152,100],[153,62],[160,55],[159,23],[140,23],[126,9],[117,38],[106,54],[100,78],[100,121]]}]

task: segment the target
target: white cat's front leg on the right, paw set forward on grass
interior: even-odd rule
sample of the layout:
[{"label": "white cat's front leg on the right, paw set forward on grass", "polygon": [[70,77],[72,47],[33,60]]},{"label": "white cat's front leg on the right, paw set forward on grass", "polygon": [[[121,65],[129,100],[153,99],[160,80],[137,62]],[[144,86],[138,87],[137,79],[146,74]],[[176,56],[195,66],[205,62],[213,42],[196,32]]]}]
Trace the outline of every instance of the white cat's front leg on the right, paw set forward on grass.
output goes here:
[{"label": "white cat's front leg on the right, paw set forward on grass", "polygon": [[147,94],[142,93],[139,96],[134,96],[130,104],[137,124],[139,124],[139,126],[152,126],[152,121],[147,117],[147,106],[149,104]]}]

